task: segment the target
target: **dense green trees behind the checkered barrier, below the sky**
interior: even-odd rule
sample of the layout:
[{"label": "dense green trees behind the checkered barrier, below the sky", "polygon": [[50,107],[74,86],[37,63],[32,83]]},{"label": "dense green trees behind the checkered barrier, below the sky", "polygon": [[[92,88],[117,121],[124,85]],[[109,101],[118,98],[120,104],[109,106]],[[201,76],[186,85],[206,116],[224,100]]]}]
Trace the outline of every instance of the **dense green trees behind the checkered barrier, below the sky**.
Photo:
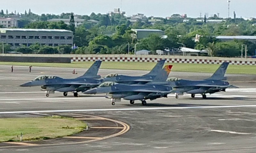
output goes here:
[{"label": "dense green trees behind the checkered barrier, below the sky", "polygon": [[[72,16],[72,13],[62,13],[61,15],[42,14],[39,16],[31,11],[27,14],[21,14],[22,19],[26,21],[22,25],[23,28],[66,29],[73,31],[74,43],[78,48],[65,53],[127,54],[128,44],[132,53],[134,52],[134,45],[138,42],[141,43],[137,45],[138,50],[156,51],[166,48],[172,50],[182,47],[181,43],[188,48],[206,50],[209,56],[218,57],[239,57],[241,55],[241,45],[243,44],[247,45],[248,56],[254,55],[256,49],[256,45],[250,41],[233,40],[221,42],[215,38],[215,36],[220,35],[256,36],[256,20],[248,21],[236,18],[235,13],[234,18],[227,18],[225,19],[226,22],[220,23],[206,22],[208,19],[220,19],[217,15],[214,15],[214,17],[202,18],[202,22],[198,22],[194,18],[188,18],[187,22],[183,22],[182,18],[160,18],[161,21],[154,24],[149,22],[150,18],[131,23],[127,17],[120,14],[109,16],[108,14],[92,13],[90,16],[81,15],[80,18],[85,19],[85,21],[78,27],[74,26],[74,16]],[[36,21],[31,22],[32,18]],[[63,21],[47,21],[52,18],[70,18],[70,25],[65,24]],[[163,30],[168,37],[163,39],[153,34],[148,38],[137,39],[132,37],[134,32],[131,29],[159,29]],[[198,42],[195,42],[194,39],[197,34],[202,37],[200,37]],[[44,47],[42,46],[42,48]],[[58,50],[58,47],[55,48]],[[33,53],[36,52],[33,51]]]}]

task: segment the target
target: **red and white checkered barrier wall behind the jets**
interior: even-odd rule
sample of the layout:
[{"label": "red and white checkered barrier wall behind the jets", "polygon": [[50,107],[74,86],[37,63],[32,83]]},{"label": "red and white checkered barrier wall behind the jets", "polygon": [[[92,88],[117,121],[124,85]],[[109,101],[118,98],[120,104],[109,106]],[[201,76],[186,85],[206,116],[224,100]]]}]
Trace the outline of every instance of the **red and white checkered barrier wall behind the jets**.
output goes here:
[{"label": "red and white checkered barrier wall behind the jets", "polygon": [[191,63],[191,64],[221,64],[229,62],[233,65],[256,65],[254,61],[222,60],[222,59],[185,59],[185,58],[152,58],[152,57],[72,57],[71,62],[92,62],[96,60],[107,62],[157,62],[166,59],[167,63]]}]

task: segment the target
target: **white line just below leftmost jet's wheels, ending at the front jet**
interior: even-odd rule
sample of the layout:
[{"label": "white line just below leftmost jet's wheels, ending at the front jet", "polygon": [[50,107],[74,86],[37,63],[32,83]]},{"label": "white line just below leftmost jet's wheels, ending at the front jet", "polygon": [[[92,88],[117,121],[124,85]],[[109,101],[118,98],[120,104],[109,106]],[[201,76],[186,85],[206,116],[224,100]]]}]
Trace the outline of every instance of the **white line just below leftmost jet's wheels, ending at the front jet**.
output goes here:
[{"label": "white line just below leftmost jet's wheels, ending at the front jet", "polygon": [[34,100],[79,100],[79,99],[106,99],[105,97],[80,97],[80,98],[28,98],[28,99],[0,99],[0,101],[34,101]]}]

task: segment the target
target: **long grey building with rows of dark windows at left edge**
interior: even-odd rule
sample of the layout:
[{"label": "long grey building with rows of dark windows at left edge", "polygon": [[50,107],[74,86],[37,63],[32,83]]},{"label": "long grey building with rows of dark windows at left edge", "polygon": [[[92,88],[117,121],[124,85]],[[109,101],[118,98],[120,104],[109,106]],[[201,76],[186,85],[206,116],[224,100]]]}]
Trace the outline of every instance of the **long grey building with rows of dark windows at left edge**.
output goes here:
[{"label": "long grey building with rows of dark windows at left edge", "polygon": [[58,29],[5,29],[0,28],[0,42],[12,48],[35,43],[48,46],[73,45],[73,32]]}]

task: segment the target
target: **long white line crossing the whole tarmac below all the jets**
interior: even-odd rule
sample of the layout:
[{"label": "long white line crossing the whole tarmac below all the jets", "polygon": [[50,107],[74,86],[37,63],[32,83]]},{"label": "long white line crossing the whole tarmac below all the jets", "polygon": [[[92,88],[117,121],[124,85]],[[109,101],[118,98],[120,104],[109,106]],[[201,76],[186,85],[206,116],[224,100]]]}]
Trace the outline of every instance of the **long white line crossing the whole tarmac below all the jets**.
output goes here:
[{"label": "long white line crossing the whole tarmac below all the jets", "polygon": [[256,107],[256,105],[236,105],[236,106],[200,106],[200,107],[156,107],[156,108],[112,108],[112,109],[74,109],[74,110],[39,110],[39,111],[13,111],[0,112],[0,114],[16,113],[56,113],[56,112],[90,112],[90,111],[126,111],[126,110],[165,110],[165,109],[195,109],[195,108],[241,108]]}]

